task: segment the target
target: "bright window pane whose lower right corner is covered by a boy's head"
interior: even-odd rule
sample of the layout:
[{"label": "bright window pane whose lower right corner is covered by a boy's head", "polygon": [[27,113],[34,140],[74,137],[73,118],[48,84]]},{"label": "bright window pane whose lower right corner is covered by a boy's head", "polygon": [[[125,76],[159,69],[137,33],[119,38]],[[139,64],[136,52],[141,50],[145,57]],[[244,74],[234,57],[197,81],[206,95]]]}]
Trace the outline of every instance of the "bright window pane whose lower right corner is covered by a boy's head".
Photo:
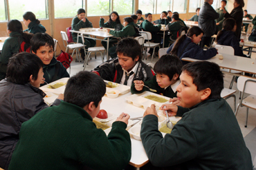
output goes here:
[{"label": "bright window pane whose lower right corner is covered by a boy's head", "polygon": [[55,18],[75,17],[83,0],[54,0]]}]

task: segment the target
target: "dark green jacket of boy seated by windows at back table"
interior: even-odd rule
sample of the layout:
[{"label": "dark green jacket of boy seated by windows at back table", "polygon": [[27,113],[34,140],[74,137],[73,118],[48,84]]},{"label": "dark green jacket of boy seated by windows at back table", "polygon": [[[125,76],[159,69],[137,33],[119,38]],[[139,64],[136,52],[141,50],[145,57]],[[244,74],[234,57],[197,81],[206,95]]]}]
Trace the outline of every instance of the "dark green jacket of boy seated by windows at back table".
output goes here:
[{"label": "dark green jacket of boy seated by windows at back table", "polygon": [[[88,19],[86,19],[86,21],[84,22],[84,21],[78,19],[78,17],[75,17],[72,20],[71,28],[72,28],[72,30],[79,31],[80,28],[93,28],[93,24]],[[71,34],[73,37],[73,41],[76,42],[77,41],[77,33],[72,32]]]}]

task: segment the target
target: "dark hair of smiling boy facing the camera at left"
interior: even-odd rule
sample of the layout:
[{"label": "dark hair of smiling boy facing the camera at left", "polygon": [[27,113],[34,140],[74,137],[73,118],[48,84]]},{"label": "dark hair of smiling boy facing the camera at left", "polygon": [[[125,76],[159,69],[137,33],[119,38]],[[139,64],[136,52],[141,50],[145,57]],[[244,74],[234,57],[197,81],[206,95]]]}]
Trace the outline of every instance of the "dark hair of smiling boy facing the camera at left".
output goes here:
[{"label": "dark hair of smiling boy facing the camera at left", "polygon": [[46,33],[37,33],[32,37],[30,41],[30,45],[31,45],[31,50],[37,53],[37,50],[42,46],[49,46],[53,48],[54,41],[53,41],[53,38]]}]

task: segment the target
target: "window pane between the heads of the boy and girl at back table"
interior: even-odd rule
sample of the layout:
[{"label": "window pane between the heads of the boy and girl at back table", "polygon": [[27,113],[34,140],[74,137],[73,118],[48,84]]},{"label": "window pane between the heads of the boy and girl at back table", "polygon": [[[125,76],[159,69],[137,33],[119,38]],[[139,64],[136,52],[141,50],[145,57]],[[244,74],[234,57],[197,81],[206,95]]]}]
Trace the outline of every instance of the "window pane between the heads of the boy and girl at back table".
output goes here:
[{"label": "window pane between the heads of the boy and girl at back table", "polygon": [[[109,0],[90,0],[87,1],[87,16],[109,15]],[[119,12],[118,12],[119,14]]]}]

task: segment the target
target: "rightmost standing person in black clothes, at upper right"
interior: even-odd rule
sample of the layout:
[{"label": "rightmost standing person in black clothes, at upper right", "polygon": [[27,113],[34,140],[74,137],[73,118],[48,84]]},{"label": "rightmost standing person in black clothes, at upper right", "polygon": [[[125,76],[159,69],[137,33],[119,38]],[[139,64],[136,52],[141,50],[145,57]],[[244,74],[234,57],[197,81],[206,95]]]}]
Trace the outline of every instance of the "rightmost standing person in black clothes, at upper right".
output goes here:
[{"label": "rightmost standing person in black clothes, at upper right", "polygon": [[235,34],[237,35],[237,39],[240,41],[241,38],[241,24],[243,23],[243,7],[244,7],[244,0],[235,0],[234,1],[234,9],[230,12],[230,14],[223,10],[223,13],[225,14],[225,18],[233,18],[235,19],[235,22],[237,23],[237,31]]}]

